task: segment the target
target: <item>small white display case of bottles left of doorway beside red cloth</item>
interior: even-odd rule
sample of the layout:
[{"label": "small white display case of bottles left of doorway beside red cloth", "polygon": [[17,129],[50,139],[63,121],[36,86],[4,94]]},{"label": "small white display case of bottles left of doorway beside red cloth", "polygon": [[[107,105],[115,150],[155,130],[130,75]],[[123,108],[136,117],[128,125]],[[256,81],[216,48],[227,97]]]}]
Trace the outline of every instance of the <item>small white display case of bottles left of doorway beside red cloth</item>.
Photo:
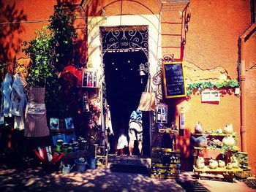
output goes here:
[{"label": "small white display case of bottles left of doorway beside red cloth", "polygon": [[83,69],[83,88],[97,88],[97,72],[94,69]]}]

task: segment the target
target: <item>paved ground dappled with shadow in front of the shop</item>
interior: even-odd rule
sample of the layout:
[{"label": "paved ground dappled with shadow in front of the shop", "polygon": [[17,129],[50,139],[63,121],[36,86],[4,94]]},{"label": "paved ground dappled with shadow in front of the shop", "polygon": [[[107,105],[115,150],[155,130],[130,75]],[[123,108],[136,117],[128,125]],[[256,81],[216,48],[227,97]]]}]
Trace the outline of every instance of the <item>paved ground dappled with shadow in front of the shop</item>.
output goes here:
[{"label": "paved ground dappled with shadow in front of the shop", "polygon": [[0,191],[255,191],[235,180],[197,180],[188,172],[180,180],[151,179],[147,174],[88,169],[83,174],[43,172],[40,167],[0,169]]}]

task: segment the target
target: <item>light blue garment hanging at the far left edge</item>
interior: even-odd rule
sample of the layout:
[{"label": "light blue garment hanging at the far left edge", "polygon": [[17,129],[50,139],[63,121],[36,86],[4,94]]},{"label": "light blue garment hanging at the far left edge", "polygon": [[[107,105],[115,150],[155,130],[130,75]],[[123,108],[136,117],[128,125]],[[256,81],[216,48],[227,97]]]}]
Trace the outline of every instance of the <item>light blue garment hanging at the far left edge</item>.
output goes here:
[{"label": "light blue garment hanging at the far left edge", "polygon": [[12,91],[12,76],[7,73],[4,81],[1,83],[1,117],[11,117],[11,91]]}]

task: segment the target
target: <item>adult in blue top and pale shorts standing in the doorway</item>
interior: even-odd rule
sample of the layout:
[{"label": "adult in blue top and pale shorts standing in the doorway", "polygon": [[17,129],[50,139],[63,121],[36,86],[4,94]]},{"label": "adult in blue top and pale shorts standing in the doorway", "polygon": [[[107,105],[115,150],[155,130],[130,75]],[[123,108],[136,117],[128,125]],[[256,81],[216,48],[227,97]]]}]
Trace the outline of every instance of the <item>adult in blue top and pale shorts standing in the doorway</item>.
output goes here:
[{"label": "adult in blue top and pale shorts standing in the doorway", "polygon": [[138,149],[140,155],[142,155],[143,144],[143,126],[142,126],[142,112],[135,110],[132,112],[129,120],[129,155],[132,155],[135,140],[138,141]]}]

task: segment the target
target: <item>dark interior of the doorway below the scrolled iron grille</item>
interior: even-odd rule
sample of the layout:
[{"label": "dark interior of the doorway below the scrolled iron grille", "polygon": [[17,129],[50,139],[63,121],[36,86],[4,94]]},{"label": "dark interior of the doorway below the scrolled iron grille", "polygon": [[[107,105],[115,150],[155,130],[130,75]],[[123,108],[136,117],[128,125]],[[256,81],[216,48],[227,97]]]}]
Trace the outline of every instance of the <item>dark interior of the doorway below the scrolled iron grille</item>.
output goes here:
[{"label": "dark interior of the doorway below the scrolled iron grille", "polygon": [[[107,101],[110,105],[111,120],[115,136],[110,139],[110,153],[115,153],[118,137],[128,137],[129,117],[138,108],[141,93],[146,87],[147,75],[140,76],[139,65],[148,62],[142,50],[135,52],[105,53],[105,82]],[[148,112],[143,112],[143,155],[149,153]],[[128,154],[128,147],[124,150]],[[138,154],[135,142],[134,154]]]}]

